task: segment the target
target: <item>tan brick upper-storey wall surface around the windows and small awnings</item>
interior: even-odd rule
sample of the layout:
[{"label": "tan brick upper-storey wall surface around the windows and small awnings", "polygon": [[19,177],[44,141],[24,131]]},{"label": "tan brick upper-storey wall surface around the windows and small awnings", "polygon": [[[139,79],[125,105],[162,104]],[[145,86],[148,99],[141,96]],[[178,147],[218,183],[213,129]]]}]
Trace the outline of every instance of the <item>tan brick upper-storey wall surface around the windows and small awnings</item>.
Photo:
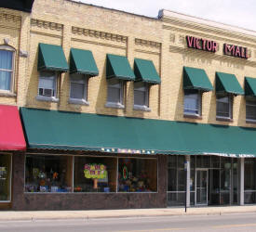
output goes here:
[{"label": "tan brick upper-storey wall surface around the windows and small awnings", "polygon": [[[184,118],[182,68],[189,66],[204,69],[213,86],[216,71],[232,73],[243,87],[245,76],[256,77],[256,34],[233,32],[168,14],[162,19],[151,19],[68,0],[36,0],[32,14],[1,8],[0,28],[0,45],[8,38],[9,45],[17,51],[13,95],[0,93],[0,104],[255,127],[254,124],[246,123],[245,97],[242,96],[234,97],[233,122],[216,121],[214,91],[203,94],[201,119]],[[217,41],[219,50],[213,54],[188,48],[186,35]],[[61,45],[67,60],[71,47],[92,51],[100,74],[88,81],[89,106],[68,103],[69,73],[62,73],[59,78],[58,103],[36,99],[39,43]],[[251,57],[246,60],[224,56],[224,43],[248,47]],[[26,51],[28,57],[20,56],[20,51]],[[124,110],[105,107],[108,53],[127,56],[132,67],[134,58],[153,60],[162,83],[150,88],[151,111],[133,110],[132,82],[126,84]]]}]

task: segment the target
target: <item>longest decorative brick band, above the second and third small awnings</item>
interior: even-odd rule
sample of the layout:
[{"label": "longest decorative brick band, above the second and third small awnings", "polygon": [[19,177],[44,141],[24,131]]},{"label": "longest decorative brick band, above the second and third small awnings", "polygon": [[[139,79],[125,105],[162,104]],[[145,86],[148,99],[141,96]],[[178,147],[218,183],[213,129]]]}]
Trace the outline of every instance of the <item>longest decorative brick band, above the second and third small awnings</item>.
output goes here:
[{"label": "longest decorative brick band, above the second and third small awnings", "polygon": [[74,34],[80,34],[88,37],[94,37],[94,38],[100,38],[105,40],[112,40],[115,42],[121,42],[121,43],[127,43],[128,37],[115,34],[115,33],[109,33],[109,32],[100,32],[85,28],[78,28],[78,27],[72,27],[72,32]]}]

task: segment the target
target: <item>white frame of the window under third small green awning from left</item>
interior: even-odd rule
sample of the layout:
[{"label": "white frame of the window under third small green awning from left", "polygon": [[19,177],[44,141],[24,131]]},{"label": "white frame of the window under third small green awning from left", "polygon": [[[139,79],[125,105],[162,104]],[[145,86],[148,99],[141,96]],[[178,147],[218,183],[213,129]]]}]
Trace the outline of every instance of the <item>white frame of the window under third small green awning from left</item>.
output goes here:
[{"label": "white frame of the window under third small green awning from left", "polygon": [[[112,80],[117,80],[118,84],[111,84]],[[119,86],[118,86],[119,85]],[[105,104],[105,107],[110,108],[118,108],[118,109],[124,109],[124,89],[125,89],[125,82],[123,80],[119,79],[109,79],[107,80],[107,92],[109,91],[109,88],[116,88],[120,89],[119,99],[116,102],[109,101],[107,96],[107,102]]]}]

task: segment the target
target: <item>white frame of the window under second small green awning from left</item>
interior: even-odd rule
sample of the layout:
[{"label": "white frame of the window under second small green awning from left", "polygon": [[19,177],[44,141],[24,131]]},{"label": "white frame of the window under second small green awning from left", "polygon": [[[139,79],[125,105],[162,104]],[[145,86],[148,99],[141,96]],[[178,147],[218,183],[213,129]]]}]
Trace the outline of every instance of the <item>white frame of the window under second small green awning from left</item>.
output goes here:
[{"label": "white frame of the window under second small green awning from left", "polygon": [[[75,80],[75,77],[79,77]],[[72,84],[84,84],[84,96],[82,98],[73,98],[71,97],[71,88]],[[80,104],[80,105],[89,105],[88,103],[88,76],[84,74],[71,74],[70,75],[70,92],[69,92],[69,103],[71,104]]]}]

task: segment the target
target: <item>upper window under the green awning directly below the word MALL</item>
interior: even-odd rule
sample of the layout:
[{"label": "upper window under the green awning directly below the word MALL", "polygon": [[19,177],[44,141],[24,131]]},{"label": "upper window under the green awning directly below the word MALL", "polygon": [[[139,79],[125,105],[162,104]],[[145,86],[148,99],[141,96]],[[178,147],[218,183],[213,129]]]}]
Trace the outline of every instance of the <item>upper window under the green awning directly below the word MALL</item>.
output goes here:
[{"label": "upper window under the green awning directly below the word MALL", "polygon": [[216,118],[217,120],[233,118],[233,96],[216,95]]}]

